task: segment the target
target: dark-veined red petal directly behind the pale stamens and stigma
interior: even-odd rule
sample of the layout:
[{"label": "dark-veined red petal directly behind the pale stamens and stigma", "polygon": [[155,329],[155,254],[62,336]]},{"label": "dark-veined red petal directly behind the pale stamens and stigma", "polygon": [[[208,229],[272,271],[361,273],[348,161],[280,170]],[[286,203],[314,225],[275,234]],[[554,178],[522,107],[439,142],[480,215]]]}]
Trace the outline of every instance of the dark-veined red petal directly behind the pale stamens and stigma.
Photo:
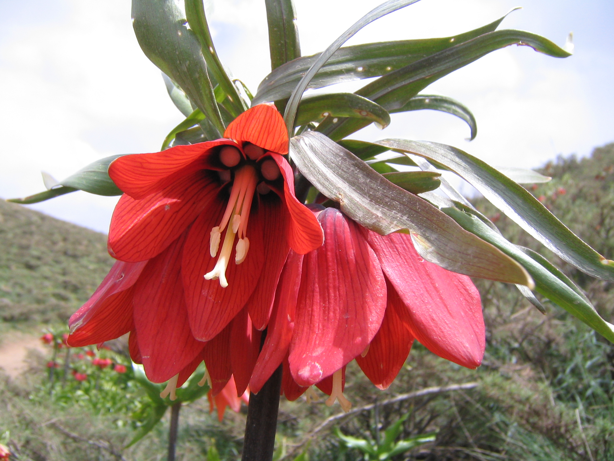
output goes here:
[{"label": "dark-veined red petal directly behind the pale stamens and stigma", "polygon": [[[211,258],[209,235],[211,229],[219,226],[226,204],[217,202],[201,213],[190,229],[185,242],[182,262],[182,277],[185,286],[185,300],[188,305],[190,326],[197,339],[209,341],[228,325],[239,310],[243,309],[254,292],[263,263],[262,228],[266,216],[252,211],[247,224],[249,251],[245,261],[235,264],[235,249],[230,255],[226,269],[228,286],[222,288],[219,280],[205,280],[204,274],[216,265],[218,254]],[[222,235],[222,242],[224,236]],[[236,240],[233,245],[236,245]]]}]

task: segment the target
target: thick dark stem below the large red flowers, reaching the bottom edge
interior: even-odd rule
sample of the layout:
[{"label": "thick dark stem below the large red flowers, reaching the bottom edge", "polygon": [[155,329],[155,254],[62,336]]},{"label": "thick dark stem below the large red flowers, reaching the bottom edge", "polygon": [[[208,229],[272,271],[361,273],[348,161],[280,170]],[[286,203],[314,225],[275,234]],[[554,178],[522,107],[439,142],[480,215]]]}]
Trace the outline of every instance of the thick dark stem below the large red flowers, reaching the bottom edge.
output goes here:
[{"label": "thick dark stem below the large red flowers, reaching the bottom edge", "polygon": [[249,396],[241,461],[271,461],[273,459],[281,376],[282,366],[280,365],[260,392]]}]

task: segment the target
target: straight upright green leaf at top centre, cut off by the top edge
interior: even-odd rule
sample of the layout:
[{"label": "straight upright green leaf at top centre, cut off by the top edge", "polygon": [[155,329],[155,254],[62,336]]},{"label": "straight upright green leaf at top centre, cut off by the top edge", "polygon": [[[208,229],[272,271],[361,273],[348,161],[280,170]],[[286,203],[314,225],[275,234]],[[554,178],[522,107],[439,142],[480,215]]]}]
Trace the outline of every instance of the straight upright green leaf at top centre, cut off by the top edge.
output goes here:
[{"label": "straight upright green leaf at top centre, cut off by the top edge", "polygon": [[301,55],[297,14],[292,0],[265,0],[271,70]]}]

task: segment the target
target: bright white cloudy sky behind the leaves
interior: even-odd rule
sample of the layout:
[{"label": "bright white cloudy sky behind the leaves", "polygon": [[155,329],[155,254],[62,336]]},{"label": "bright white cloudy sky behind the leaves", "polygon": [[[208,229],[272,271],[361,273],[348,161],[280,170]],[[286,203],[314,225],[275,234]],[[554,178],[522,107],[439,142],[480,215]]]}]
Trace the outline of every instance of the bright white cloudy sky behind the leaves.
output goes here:
[{"label": "bright white cloudy sky behind the leaves", "polygon": [[[303,55],[319,52],[379,1],[295,0]],[[421,0],[367,26],[348,44],[449,36],[492,22],[564,45],[558,59],[507,47],[449,74],[423,93],[468,106],[478,136],[449,114],[393,114],[362,140],[399,137],[451,144],[494,166],[532,168],[559,154],[589,155],[614,141],[614,2]],[[224,65],[255,93],[270,72],[262,0],[206,0]],[[354,91],[364,81],[329,87]],[[155,152],[183,119],[160,71],[134,37],[129,0],[0,0],[0,197],[44,190],[41,171],[66,178],[96,159]],[[30,205],[107,232],[117,197],[87,192]]]}]

